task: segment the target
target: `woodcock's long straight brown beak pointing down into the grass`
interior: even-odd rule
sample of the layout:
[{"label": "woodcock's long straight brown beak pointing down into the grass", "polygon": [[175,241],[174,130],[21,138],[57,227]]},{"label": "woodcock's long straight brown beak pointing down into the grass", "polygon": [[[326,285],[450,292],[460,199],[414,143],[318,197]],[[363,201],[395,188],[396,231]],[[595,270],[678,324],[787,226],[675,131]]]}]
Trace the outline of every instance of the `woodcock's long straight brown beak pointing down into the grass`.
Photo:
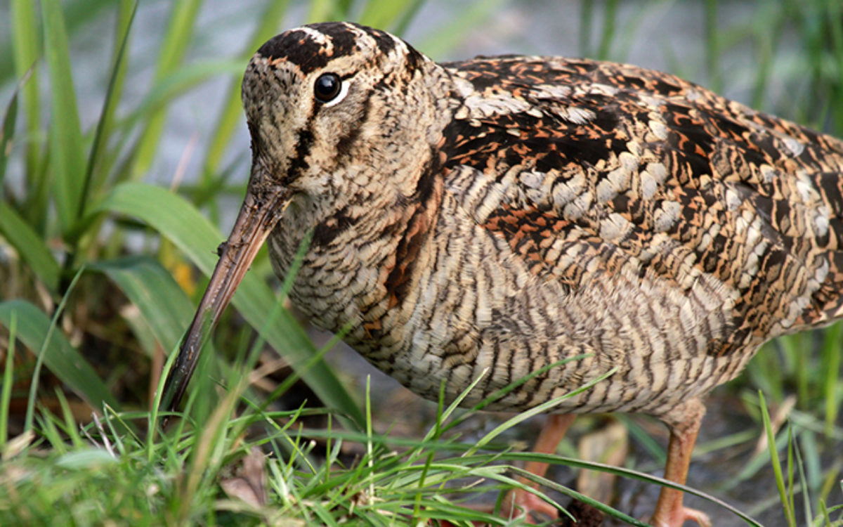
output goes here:
[{"label": "woodcock's long straight brown beak pointing down into the grass", "polygon": [[288,194],[284,187],[266,185],[260,170],[253,167],[249,190],[246,191],[234,228],[223,246],[211,282],[208,282],[191,327],[181,343],[179,356],[164,384],[164,396],[161,399],[163,410],[173,411],[179,406],[202,347],[234,296],[234,290],[255,260],[260,246],[275,227],[278,218],[281,218],[289,202]]}]

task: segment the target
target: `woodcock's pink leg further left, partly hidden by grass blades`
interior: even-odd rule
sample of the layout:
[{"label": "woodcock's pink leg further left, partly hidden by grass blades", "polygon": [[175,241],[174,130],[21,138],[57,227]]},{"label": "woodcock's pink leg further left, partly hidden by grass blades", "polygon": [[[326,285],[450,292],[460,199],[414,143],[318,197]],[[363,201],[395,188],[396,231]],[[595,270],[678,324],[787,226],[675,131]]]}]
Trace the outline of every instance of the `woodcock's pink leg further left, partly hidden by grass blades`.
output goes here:
[{"label": "woodcock's pink leg further left, partly hidden by grass blades", "polygon": [[[576,417],[574,414],[551,414],[548,416],[545,427],[541,429],[539,438],[535,442],[533,451],[537,454],[553,454],[556,452],[556,447],[562,438],[565,437],[565,433],[574,421],[574,417]],[[545,476],[547,466],[547,463],[528,461],[527,465],[524,466],[524,470],[536,476]],[[524,478],[521,478],[520,481],[530,487],[537,487],[533,481]],[[550,519],[556,519],[558,516],[556,507],[553,507],[550,503],[545,502],[539,497],[535,497],[534,494],[524,489],[515,488],[509,491],[503,499],[503,513],[514,516],[518,514],[518,509],[524,511],[528,519],[529,514],[533,512],[544,514]]]}]

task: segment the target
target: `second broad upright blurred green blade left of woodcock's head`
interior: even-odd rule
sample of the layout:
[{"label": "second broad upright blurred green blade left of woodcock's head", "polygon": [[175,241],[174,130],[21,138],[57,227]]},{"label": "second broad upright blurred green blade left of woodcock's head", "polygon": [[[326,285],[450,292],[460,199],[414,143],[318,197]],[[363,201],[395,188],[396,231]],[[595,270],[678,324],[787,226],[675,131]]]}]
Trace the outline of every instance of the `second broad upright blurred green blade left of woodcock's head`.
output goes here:
[{"label": "second broad upright blurred green blade left of woodcock's head", "polygon": [[[196,23],[196,15],[201,7],[201,0],[184,0],[172,4],[173,9],[169,14],[169,26],[164,35],[164,42],[158,51],[158,67],[155,73],[155,83],[168,77],[175,72],[184,59],[188,46],[193,35],[193,26]],[[158,149],[158,141],[164,131],[164,122],[167,118],[166,108],[162,107],[148,116],[147,126],[141,133],[135,151],[135,164],[132,169],[132,179],[137,179],[146,174],[147,170],[155,159],[155,152]]]}]

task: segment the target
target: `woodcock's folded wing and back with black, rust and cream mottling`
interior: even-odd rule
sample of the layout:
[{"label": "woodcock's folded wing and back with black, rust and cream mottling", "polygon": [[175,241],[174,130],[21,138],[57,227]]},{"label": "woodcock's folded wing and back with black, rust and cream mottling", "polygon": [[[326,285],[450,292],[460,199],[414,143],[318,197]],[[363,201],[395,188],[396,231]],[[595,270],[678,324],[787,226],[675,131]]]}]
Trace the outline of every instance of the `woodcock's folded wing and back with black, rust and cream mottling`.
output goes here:
[{"label": "woodcock's folded wing and back with black, rust and cream mottling", "polygon": [[639,67],[446,67],[446,168],[474,173],[464,206],[534,273],[575,290],[623,267],[684,293],[713,277],[734,301],[717,352],[840,315],[840,141]]}]

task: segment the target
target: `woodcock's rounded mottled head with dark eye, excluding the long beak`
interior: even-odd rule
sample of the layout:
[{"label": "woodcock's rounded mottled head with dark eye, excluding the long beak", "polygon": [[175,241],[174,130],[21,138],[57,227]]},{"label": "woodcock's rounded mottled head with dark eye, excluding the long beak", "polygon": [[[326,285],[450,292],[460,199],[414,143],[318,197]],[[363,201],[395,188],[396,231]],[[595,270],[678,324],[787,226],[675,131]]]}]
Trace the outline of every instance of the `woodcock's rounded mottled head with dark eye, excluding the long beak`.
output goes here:
[{"label": "woodcock's rounded mottled head with dark eye, excluding the long beak", "polygon": [[243,78],[252,185],[347,192],[362,167],[383,171],[406,148],[424,148],[428,64],[403,40],[344,22],[267,41]]}]

